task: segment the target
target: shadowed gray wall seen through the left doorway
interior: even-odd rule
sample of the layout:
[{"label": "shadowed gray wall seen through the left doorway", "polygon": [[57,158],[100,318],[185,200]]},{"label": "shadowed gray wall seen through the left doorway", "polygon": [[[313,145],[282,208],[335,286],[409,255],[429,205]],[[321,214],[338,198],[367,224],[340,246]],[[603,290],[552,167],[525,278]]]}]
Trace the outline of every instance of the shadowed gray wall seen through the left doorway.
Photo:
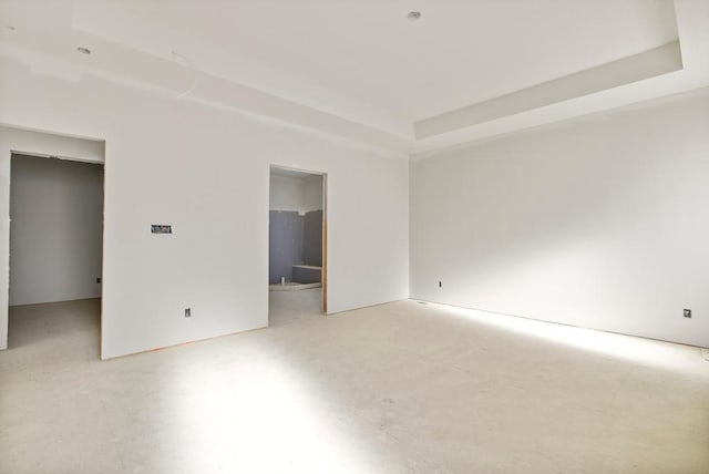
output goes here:
[{"label": "shadowed gray wall seen through the left doorway", "polygon": [[12,155],[10,306],[101,296],[103,166]]}]

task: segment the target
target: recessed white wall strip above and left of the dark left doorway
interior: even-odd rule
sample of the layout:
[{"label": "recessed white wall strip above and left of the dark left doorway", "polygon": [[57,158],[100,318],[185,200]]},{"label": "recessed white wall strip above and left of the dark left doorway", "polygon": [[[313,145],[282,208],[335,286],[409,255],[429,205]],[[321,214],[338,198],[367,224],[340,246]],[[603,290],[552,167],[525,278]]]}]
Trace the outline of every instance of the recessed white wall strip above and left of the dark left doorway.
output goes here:
[{"label": "recessed white wall strip above and left of the dark left doorway", "polygon": [[[3,90],[0,87],[0,94]],[[0,107],[0,111],[2,109]],[[0,349],[8,347],[10,156],[12,152],[103,163],[104,145],[99,141],[0,126]]]}]

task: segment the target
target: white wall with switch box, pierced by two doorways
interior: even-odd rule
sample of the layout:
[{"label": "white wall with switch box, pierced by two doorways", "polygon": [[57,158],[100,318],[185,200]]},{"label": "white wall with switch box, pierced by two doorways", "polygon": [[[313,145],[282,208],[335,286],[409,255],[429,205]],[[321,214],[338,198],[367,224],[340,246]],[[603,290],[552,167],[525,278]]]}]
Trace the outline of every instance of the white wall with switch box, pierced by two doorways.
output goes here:
[{"label": "white wall with switch box, pierced by two doorways", "polygon": [[409,296],[405,159],[85,70],[2,56],[0,71],[0,123],[106,142],[103,358],[268,323],[271,164],[328,174],[331,312]]}]

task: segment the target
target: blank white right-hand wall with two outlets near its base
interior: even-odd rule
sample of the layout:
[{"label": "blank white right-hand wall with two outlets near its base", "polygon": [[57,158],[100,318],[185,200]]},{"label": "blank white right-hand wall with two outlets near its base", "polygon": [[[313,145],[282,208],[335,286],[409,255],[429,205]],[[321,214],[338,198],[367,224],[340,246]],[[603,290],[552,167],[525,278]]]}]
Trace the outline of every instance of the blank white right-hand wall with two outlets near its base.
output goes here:
[{"label": "blank white right-hand wall with two outlets near its base", "polygon": [[705,89],[413,163],[411,297],[709,347],[708,131]]}]

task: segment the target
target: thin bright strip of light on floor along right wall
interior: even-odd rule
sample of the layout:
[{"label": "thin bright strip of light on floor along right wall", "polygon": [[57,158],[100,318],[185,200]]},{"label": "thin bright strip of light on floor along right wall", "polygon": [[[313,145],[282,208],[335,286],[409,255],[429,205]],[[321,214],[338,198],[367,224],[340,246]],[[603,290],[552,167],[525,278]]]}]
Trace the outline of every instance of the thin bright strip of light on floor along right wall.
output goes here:
[{"label": "thin bright strip of light on floor along right wall", "polygon": [[546,341],[691,375],[709,377],[699,348],[439,303],[436,310]]}]

